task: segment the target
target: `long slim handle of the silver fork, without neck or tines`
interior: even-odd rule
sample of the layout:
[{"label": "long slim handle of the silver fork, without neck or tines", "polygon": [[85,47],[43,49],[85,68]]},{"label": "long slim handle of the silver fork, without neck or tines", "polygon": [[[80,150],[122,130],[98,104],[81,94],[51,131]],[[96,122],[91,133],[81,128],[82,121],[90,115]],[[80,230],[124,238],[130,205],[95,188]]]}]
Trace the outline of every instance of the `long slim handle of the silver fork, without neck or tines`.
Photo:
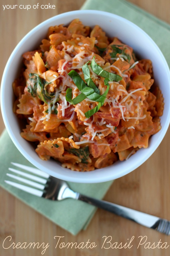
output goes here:
[{"label": "long slim handle of the silver fork, without neck or tines", "polygon": [[161,233],[170,233],[170,222],[159,217],[81,194],[79,195],[78,200],[97,206],[106,211],[110,211],[126,219],[135,221],[136,223],[139,223],[145,227],[156,229]]}]

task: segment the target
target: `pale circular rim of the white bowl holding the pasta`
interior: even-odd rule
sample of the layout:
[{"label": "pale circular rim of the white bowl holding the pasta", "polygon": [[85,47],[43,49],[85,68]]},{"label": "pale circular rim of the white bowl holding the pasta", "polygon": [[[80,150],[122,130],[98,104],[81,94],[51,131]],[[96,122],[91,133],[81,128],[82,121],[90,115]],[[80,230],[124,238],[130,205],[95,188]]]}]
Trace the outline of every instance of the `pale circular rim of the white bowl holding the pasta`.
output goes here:
[{"label": "pale circular rim of the white bowl holding the pasta", "polygon": [[[170,71],[169,71],[169,67],[168,67],[168,64],[165,60],[165,57],[163,56],[161,50],[159,49],[159,47],[156,45],[156,43],[152,40],[152,38],[147,34],[145,33],[140,27],[138,27],[137,25],[135,25],[134,23],[130,22],[129,20],[121,17],[121,16],[118,16],[116,14],[113,14],[113,13],[109,13],[109,12],[104,12],[104,11],[99,11],[99,10],[76,10],[76,11],[71,11],[71,12],[66,12],[66,13],[62,13],[62,14],[59,14],[59,15],[56,15],[56,16],[53,16],[47,20],[44,20],[43,22],[41,22],[39,25],[37,25],[36,27],[34,27],[33,29],[31,29],[21,40],[20,42],[17,44],[17,46],[14,48],[13,52],[11,53],[7,63],[6,63],[6,66],[5,66],[5,69],[4,69],[4,72],[3,72],[3,76],[2,76],[2,81],[1,81],[1,91],[0,91],[0,101],[1,101],[1,111],[2,111],[2,116],[3,116],[3,120],[4,120],[4,123],[5,123],[5,126],[6,126],[6,129],[7,129],[7,132],[9,134],[9,136],[11,137],[12,141],[14,142],[15,146],[18,148],[18,150],[21,152],[21,154],[26,158],[28,159],[29,162],[31,162],[34,166],[36,166],[37,168],[39,169],[42,169],[43,171],[45,171],[46,173],[54,176],[54,177],[57,177],[57,178],[60,178],[60,179],[64,179],[66,181],[70,181],[70,182],[77,182],[77,183],[99,183],[99,182],[106,182],[106,181],[109,181],[109,180],[113,180],[113,179],[116,179],[116,178],[119,178],[119,177],[122,177],[130,172],[132,172],[133,170],[135,170],[137,167],[139,167],[141,164],[143,164],[152,154],[153,152],[156,150],[156,148],[160,145],[161,141],[163,140],[163,137],[165,136],[165,133],[168,129],[168,126],[169,126],[169,123],[170,123],[170,108],[168,109],[168,115],[167,115],[167,119],[166,119],[166,122],[164,124],[164,127],[162,127],[161,131],[160,131],[160,136],[159,136],[159,140],[157,140],[155,143],[154,143],[154,147],[152,147],[152,150],[149,151],[149,154],[147,154],[147,156],[144,156],[141,161],[139,161],[138,163],[135,163],[133,165],[133,167],[131,168],[131,166],[129,166],[129,168],[127,168],[126,170],[122,170],[121,172],[119,172],[118,174],[116,173],[112,173],[110,174],[110,176],[106,176],[106,177],[103,177],[102,175],[101,176],[96,176],[96,177],[90,177],[91,175],[89,175],[91,172],[84,172],[84,173],[87,173],[87,177],[82,177],[81,175],[81,172],[76,172],[78,175],[76,177],[74,176],[65,176],[65,175],[59,175],[58,173],[54,172],[53,170],[50,170],[50,169],[46,169],[43,167],[43,165],[41,165],[40,163],[36,162],[34,159],[32,159],[32,157],[27,153],[27,151],[21,146],[21,143],[19,143],[19,141],[17,140],[13,130],[11,129],[11,124],[9,123],[8,119],[7,119],[7,116],[5,115],[5,106],[4,106],[4,100],[3,100],[3,95],[4,95],[4,90],[5,90],[5,86],[3,86],[3,84],[5,84],[5,81],[6,81],[6,77],[7,77],[7,71],[8,71],[8,67],[9,67],[9,64],[11,62],[11,60],[13,60],[16,52],[18,51],[18,49],[20,48],[21,45],[23,45],[23,43],[35,32],[35,31],[38,31],[42,26],[44,27],[45,25],[47,25],[48,23],[51,23],[51,22],[57,22],[57,19],[60,19],[60,18],[63,18],[63,17],[68,17],[69,15],[75,15],[76,17],[76,14],[98,14],[98,15],[107,15],[111,18],[116,18],[118,20],[122,20],[124,22],[126,22],[127,24],[129,24],[130,26],[138,29],[142,34],[144,34],[146,37],[148,37],[148,39],[152,42],[152,44],[157,48],[157,51],[159,52],[162,60],[164,61],[164,64],[165,64],[165,68],[166,68],[166,73],[169,73],[169,85],[170,85]],[[30,159],[31,158],[31,159]],[[115,164],[114,164],[115,165]],[[104,169],[104,168],[102,168]],[[101,170],[101,169],[98,169],[98,170]],[[75,172],[75,171],[71,171],[70,170],[70,173],[71,172]],[[95,172],[92,171],[92,172]],[[57,175],[56,175],[57,174]]]}]

